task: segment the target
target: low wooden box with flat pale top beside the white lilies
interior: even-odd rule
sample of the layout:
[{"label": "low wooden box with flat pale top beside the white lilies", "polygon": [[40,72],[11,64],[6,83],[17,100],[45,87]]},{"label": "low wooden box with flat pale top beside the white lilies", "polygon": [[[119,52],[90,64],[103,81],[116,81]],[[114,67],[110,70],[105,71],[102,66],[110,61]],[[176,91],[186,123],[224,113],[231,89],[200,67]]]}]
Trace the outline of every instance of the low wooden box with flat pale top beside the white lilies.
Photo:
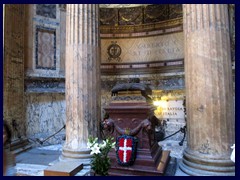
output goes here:
[{"label": "low wooden box with flat pale top beside the white lilies", "polygon": [[59,161],[44,170],[44,176],[74,176],[83,169],[83,164],[75,161]]}]

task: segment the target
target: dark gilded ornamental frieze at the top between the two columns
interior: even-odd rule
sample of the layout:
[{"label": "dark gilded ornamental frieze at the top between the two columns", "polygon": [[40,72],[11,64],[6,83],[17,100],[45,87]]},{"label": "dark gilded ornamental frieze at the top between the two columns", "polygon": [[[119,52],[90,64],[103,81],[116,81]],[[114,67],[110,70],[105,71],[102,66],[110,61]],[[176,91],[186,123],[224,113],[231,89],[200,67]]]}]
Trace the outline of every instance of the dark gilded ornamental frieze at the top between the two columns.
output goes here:
[{"label": "dark gilded ornamental frieze at the top between the two columns", "polygon": [[155,4],[128,8],[101,8],[100,32],[135,33],[182,25],[181,4]]}]

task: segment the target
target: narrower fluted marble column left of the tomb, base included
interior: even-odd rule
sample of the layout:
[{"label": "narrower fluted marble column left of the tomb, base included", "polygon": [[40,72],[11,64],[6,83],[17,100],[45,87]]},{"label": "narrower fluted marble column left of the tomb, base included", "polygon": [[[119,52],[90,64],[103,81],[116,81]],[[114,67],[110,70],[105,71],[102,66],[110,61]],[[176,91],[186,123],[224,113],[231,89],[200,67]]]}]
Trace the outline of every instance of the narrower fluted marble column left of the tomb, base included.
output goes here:
[{"label": "narrower fluted marble column left of the tomb, base included", "polygon": [[90,164],[89,136],[100,121],[99,6],[66,7],[66,141],[60,160]]}]

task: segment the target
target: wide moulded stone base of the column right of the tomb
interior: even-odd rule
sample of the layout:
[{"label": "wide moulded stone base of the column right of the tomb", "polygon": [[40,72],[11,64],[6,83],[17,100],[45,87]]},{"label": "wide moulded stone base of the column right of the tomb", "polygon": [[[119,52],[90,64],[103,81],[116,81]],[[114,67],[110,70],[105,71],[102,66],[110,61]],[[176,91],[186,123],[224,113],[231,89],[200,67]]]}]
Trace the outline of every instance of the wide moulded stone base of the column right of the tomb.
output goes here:
[{"label": "wide moulded stone base of the column right of the tomb", "polygon": [[199,157],[185,150],[179,168],[191,176],[235,176],[235,164],[228,159]]}]

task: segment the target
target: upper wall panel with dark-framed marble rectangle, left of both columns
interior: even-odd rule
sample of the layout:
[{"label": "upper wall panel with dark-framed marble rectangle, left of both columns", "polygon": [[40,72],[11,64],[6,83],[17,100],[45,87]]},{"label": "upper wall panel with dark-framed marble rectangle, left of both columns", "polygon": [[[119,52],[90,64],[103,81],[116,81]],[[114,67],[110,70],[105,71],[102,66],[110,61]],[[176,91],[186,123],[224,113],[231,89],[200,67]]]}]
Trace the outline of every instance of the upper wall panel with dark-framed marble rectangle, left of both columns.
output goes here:
[{"label": "upper wall panel with dark-framed marble rectangle, left of both columns", "polygon": [[[27,5],[25,69],[30,77],[64,77],[65,12],[59,6]],[[63,20],[61,22],[61,20]]]}]

